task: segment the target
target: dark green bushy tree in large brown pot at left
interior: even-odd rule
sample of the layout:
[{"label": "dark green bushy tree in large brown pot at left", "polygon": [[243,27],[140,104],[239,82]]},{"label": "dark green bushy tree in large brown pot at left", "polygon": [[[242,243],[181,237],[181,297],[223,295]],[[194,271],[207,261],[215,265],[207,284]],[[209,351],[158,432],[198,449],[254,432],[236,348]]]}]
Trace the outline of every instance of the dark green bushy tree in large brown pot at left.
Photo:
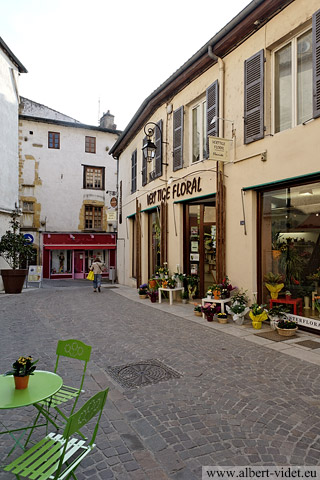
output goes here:
[{"label": "dark green bushy tree in large brown pot at left", "polygon": [[2,269],[1,276],[6,293],[21,293],[28,273],[21,268],[33,258],[34,250],[20,232],[18,209],[11,213],[11,230],[7,230],[0,240],[0,255],[10,265],[11,269]]}]

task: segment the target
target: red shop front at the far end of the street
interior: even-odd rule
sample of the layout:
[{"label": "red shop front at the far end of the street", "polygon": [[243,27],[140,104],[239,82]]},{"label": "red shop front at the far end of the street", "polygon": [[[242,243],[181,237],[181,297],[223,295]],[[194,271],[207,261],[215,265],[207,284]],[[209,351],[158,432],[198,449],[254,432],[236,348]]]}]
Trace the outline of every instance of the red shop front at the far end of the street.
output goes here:
[{"label": "red shop front at the far end of the street", "polygon": [[44,233],[43,277],[86,278],[92,262],[99,258],[105,265],[104,278],[116,267],[114,233]]}]

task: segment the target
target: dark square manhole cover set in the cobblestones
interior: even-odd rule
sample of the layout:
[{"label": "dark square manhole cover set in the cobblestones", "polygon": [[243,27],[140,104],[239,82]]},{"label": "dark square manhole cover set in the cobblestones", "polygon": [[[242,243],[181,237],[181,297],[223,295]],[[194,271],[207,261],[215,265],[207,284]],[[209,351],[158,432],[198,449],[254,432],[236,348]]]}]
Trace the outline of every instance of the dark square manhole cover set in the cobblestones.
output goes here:
[{"label": "dark square manhole cover set in the cobblestones", "polygon": [[180,373],[159,360],[145,360],[118,367],[107,367],[107,371],[124,388],[143,387],[181,377]]}]

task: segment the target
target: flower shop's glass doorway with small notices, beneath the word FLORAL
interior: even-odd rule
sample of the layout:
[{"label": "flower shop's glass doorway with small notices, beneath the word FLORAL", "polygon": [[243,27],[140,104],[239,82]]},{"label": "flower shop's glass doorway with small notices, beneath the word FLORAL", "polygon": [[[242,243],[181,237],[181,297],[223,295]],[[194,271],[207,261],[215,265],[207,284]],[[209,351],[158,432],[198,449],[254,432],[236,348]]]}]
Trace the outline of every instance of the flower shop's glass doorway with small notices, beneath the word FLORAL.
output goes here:
[{"label": "flower shop's glass doorway with small notices, beneath the word FLORAL", "polygon": [[199,277],[199,296],[216,283],[215,197],[188,203],[184,212],[184,265],[187,275]]}]

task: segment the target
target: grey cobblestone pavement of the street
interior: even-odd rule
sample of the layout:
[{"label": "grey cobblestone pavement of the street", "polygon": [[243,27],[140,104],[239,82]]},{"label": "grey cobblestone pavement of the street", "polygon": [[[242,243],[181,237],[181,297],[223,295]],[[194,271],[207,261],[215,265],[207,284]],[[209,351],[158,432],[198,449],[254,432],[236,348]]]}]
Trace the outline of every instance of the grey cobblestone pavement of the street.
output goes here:
[{"label": "grey cobblestone pavement of the street", "polygon": [[[81,404],[110,392],[98,448],[79,480],[193,480],[205,465],[320,465],[318,365],[173,315],[165,303],[160,310],[132,301],[121,287],[99,294],[86,282],[63,285],[0,295],[0,371],[24,354],[52,370],[59,339],[92,345]],[[125,389],[108,375],[108,367],[149,359],[181,377]],[[62,371],[68,384],[73,368]],[[32,406],[3,410],[0,421],[14,428],[34,414]],[[12,442],[0,436],[0,463]],[[11,478],[0,471],[1,480]]]}]

